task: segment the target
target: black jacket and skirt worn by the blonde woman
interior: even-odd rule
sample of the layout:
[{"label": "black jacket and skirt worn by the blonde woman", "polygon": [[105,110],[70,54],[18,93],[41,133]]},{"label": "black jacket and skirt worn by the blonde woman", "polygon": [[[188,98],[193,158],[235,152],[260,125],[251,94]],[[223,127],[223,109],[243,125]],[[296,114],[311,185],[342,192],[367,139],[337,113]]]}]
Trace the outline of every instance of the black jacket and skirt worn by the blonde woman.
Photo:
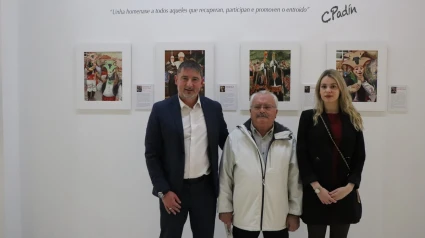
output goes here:
[{"label": "black jacket and skirt worn by the blonde woman", "polygon": [[[349,224],[353,215],[349,212],[349,202],[344,200],[349,196],[356,196],[355,190],[360,186],[366,158],[363,132],[356,131],[349,116],[344,113],[341,114],[342,139],[339,149],[346,158],[351,172],[349,173],[343,159],[339,157],[338,184],[334,185],[332,183],[332,156],[335,145],[320,118],[318,118],[318,123],[314,125],[313,115],[313,110],[302,112],[297,136],[298,166],[304,184],[302,218],[307,224],[330,224],[334,222],[330,220],[332,217],[337,222]],[[322,117],[330,129],[326,113],[323,113]],[[336,204],[323,205],[310,185],[314,181],[318,181],[329,192],[338,187],[346,186],[348,183],[353,183],[355,186],[350,195]]]}]

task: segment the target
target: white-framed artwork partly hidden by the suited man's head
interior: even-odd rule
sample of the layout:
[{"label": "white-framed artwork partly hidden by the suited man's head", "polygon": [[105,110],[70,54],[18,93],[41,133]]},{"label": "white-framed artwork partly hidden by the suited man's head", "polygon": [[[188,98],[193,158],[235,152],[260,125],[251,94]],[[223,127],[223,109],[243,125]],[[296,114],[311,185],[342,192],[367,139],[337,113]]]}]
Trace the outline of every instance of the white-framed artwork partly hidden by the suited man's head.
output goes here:
[{"label": "white-framed artwork partly hidden by the suited man's head", "polygon": [[177,94],[175,79],[180,64],[193,60],[201,66],[202,96],[214,98],[214,45],[212,43],[158,43],[155,47],[155,101]]}]

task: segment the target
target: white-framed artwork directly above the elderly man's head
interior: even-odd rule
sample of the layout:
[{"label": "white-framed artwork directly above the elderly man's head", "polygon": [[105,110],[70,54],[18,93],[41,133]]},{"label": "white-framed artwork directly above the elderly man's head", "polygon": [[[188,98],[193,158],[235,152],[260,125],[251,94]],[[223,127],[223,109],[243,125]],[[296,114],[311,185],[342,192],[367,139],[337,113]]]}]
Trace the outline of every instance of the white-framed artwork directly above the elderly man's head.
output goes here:
[{"label": "white-framed artwork directly above the elderly man's head", "polygon": [[300,48],[294,42],[246,42],[240,52],[240,106],[250,109],[255,92],[267,90],[278,98],[278,110],[298,110]]}]

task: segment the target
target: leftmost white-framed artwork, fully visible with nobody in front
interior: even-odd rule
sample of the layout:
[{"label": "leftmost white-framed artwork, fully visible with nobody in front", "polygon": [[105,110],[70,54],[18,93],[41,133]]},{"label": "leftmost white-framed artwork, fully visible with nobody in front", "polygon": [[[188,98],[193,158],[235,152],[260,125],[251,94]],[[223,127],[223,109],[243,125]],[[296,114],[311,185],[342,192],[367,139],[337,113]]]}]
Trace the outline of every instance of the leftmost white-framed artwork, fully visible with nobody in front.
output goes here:
[{"label": "leftmost white-framed artwork, fully visible with nobody in front", "polygon": [[131,109],[131,45],[81,44],[76,49],[78,109]]}]

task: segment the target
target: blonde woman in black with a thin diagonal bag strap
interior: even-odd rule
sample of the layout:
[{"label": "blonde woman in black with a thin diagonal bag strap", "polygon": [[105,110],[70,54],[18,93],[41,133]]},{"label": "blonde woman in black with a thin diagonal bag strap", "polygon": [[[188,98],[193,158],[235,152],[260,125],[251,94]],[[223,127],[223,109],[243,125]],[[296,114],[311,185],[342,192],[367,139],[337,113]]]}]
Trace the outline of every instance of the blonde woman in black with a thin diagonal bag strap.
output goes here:
[{"label": "blonde woman in black with a thin diagonal bag strap", "polygon": [[365,162],[363,122],[341,74],[320,75],[316,105],[303,111],[298,128],[297,159],[303,182],[303,215],[309,238],[346,238],[361,218],[358,194]]}]

